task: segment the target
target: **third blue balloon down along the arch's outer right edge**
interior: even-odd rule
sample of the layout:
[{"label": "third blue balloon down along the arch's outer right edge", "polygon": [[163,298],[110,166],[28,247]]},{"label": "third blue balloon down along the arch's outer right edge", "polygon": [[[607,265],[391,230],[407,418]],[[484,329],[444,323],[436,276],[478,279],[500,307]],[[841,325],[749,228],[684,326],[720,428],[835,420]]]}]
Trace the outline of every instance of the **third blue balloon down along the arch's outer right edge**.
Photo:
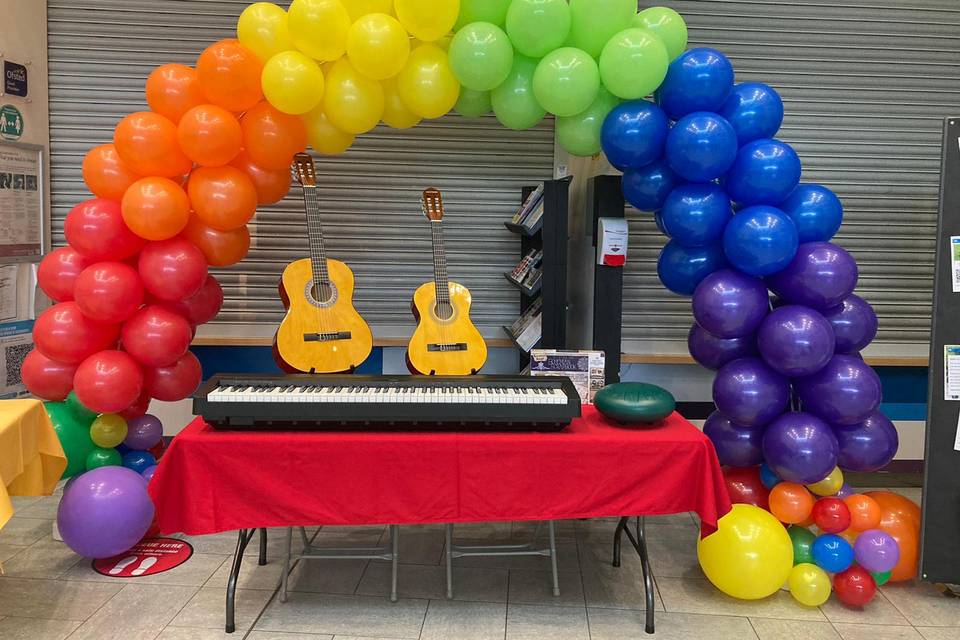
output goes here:
[{"label": "third blue balloon down along the arch's outer right edge", "polygon": [[777,205],[800,182],[800,158],[786,142],[763,138],[737,152],[724,186],[734,201],[745,207]]}]

